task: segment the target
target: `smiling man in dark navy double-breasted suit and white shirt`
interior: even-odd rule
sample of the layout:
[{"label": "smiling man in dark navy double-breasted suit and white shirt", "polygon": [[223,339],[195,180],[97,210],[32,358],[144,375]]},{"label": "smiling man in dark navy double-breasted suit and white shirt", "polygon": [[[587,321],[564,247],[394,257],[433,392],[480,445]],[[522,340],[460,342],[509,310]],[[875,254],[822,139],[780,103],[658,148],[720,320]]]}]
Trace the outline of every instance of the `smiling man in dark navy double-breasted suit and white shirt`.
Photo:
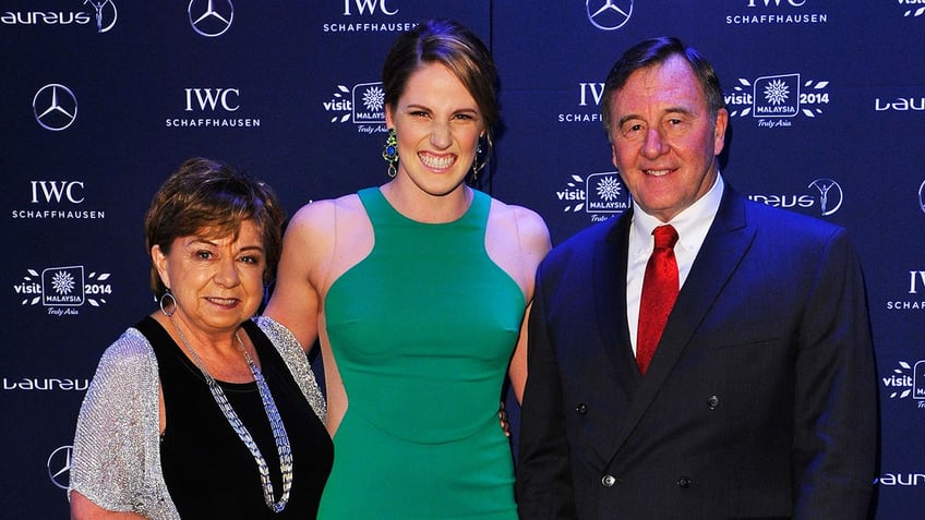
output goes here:
[{"label": "smiling man in dark navy double-breasted suit and white shirt", "polygon": [[[616,62],[602,114],[634,207],[538,271],[520,518],[867,518],[877,388],[845,231],[730,188],[719,81],[675,38]],[[680,292],[644,370],[642,281],[664,225]]]}]

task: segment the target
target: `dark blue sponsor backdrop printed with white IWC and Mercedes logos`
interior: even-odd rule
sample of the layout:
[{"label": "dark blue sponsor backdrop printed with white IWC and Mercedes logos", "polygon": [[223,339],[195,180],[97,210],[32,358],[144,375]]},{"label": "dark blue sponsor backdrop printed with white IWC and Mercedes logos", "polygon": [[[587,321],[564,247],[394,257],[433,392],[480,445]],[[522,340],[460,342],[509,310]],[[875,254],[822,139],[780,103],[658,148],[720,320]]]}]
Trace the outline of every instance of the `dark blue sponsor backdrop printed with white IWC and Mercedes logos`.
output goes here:
[{"label": "dark blue sponsor backdrop printed with white IWC and Mercedes logos", "polygon": [[89,378],[154,310],[142,217],[164,179],[225,159],[290,214],[385,182],[381,63],[430,16],[497,61],[481,188],[539,211],[556,243],[628,205],[599,116],[614,60],[676,35],[712,61],[725,179],[854,238],[880,382],[876,518],[925,518],[925,0],[2,0],[0,517],[67,518]]}]

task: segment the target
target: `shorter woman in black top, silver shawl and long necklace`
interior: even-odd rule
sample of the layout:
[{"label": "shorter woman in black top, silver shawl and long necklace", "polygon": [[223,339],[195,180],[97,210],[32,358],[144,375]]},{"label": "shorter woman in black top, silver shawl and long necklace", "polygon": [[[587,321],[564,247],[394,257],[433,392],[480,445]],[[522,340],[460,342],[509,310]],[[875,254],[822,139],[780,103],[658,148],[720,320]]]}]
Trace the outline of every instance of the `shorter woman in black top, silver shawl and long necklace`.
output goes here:
[{"label": "shorter woman in black top, silver shawl and long necklace", "polygon": [[284,215],[266,184],[190,159],[145,217],[159,309],[103,354],[77,421],[73,518],[314,518],[331,471],[304,351],[252,318]]}]

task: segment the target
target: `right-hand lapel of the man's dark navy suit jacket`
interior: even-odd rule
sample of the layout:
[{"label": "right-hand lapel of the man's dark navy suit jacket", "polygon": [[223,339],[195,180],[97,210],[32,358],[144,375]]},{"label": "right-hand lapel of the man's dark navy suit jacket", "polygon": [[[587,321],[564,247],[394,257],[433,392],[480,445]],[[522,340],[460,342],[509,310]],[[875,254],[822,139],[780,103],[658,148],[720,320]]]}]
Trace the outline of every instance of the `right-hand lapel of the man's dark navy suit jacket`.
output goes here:
[{"label": "right-hand lapel of the man's dark navy suit jacket", "polygon": [[[652,403],[697,326],[742,262],[754,237],[755,230],[747,227],[745,219],[744,199],[726,185],[717,217],[677,295],[649,370],[641,378],[623,426],[614,438],[614,457]],[[623,256],[625,273],[626,255]],[[624,280],[624,289],[625,285]],[[625,298],[623,300],[625,311]],[[626,315],[625,312],[623,315]]]}]

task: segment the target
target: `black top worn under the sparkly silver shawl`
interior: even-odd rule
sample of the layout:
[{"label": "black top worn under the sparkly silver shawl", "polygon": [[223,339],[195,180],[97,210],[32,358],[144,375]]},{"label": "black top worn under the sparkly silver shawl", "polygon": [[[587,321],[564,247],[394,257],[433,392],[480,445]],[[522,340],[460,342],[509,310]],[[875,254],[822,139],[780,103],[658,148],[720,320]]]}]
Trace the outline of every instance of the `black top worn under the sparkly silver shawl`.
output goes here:
[{"label": "black top worn under the sparkly silver shawl", "polygon": [[[260,356],[292,448],[289,503],[274,513],[264,501],[254,457],[225,419],[202,373],[152,317],[135,325],[151,341],[164,390],[167,427],[160,437],[160,467],[183,520],[312,519],[331,473],[334,445],[283,358],[251,321],[243,324]],[[279,455],[256,383],[218,382],[266,460],[274,500],[283,494]]]}]

